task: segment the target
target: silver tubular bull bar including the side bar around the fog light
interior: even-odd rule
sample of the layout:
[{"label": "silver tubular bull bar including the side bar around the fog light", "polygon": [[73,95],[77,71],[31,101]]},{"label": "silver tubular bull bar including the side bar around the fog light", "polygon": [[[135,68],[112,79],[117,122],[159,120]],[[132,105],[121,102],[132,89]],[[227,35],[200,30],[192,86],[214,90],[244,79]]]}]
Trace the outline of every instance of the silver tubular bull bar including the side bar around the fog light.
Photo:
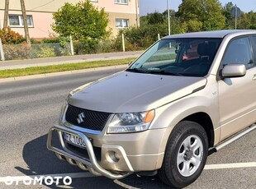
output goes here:
[{"label": "silver tubular bull bar including the side bar around the fog light", "polygon": [[[55,131],[58,133],[59,142],[60,142],[63,150],[56,148],[55,146],[52,145],[53,133]],[[69,150],[66,147],[64,139],[62,137],[62,133],[64,133],[64,132],[69,133],[73,136],[78,136],[83,140],[84,144],[86,145],[86,150],[88,151],[88,159],[86,159],[82,156],[79,156],[78,154],[73,153],[73,151]],[[122,161],[124,161],[123,164],[126,164],[127,168],[130,169],[129,173],[111,173],[107,169],[102,168],[100,166],[100,164],[97,163],[97,158],[94,154],[91,141],[82,132],[74,131],[72,129],[69,129],[68,127],[55,126],[55,127],[50,128],[48,138],[47,138],[48,150],[54,151],[59,159],[67,160],[69,162],[69,164],[78,165],[79,168],[82,168],[83,170],[88,170],[93,175],[105,176],[105,177],[108,177],[111,179],[121,179],[123,177],[127,177],[128,175],[130,175],[131,173],[134,172],[133,168],[130,165],[129,159],[126,156],[126,152],[125,152],[125,150],[123,150],[123,148],[121,146],[110,145],[107,147],[109,149],[113,148],[113,149],[115,149],[115,151],[117,150],[118,153],[120,153],[121,156],[124,157],[124,158],[122,158]],[[111,158],[111,156],[110,156],[110,158]]]}]

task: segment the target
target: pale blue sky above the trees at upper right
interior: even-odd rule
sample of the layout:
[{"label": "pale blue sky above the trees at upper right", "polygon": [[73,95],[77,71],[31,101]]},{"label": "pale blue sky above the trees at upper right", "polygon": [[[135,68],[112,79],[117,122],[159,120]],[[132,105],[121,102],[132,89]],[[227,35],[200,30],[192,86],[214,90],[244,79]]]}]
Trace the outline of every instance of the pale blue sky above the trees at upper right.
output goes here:
[{"label": "pale blue sky above the trees at upper right", "polygon": [[[178,6],[182,3],[182,0],[169,0],[170,9],[178,11]],[[241,9],[243,12],[254,11],[256,12],[256,0],[220,0],[222,6],[227,2],[233,2],[233,4]],[[140,0],[140,15],[146,15],[151,12],[164,12],[167,9],[167,0]]]}]

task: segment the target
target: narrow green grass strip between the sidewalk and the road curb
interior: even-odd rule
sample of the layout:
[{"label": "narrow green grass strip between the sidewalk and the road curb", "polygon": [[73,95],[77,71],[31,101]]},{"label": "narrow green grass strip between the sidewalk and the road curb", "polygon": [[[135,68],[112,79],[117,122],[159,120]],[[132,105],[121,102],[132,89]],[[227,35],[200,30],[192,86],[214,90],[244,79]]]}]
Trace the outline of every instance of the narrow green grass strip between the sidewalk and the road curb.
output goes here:
[{"label": "narrow green grass strip between the sidewalk and the road curb", "polygon": [[124,65],[128,66],[128,62],[134,60],[135,58],[125,58],[118,60],[104,60],[104,61],[93,61],[93,62],[82,62],[82,63],[65,63],[59,65],[45,66],[45,67],[26,67],[21,69],[10,69],[1,70],[0,78],[16,77],[16,76],[31,76],[36,74],[45,74],[61,71],[73,71],[82,70],[94,67],[108,67]]}]

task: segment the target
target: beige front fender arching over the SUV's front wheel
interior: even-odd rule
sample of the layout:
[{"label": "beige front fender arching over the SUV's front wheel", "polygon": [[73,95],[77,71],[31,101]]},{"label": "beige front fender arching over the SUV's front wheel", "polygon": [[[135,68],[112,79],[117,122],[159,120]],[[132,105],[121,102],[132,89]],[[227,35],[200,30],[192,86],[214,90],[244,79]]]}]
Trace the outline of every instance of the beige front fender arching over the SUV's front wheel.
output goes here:
[{"label": "beige front fender arching over the SUV's front wheel", "polygon": [[178,122],[194,113],[206,113],[211,118],[215,136],[214,145],[220,141],[218,95],[215,91],[211,95],[206,94],[209,94],[209,90],[205,88],[156,109],[154,122],[149,129],[167,128],[159,152],[164,152],[168,137]]}]

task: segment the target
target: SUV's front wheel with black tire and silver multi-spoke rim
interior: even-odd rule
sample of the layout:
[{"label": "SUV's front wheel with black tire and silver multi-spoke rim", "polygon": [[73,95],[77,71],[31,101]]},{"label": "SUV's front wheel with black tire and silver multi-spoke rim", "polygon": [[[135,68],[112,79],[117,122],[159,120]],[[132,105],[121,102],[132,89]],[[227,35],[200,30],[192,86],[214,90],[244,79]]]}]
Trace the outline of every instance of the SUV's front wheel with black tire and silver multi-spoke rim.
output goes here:
[{"label": "SUV's front wheel with black tire and silver multi-spoke rim", "polygon": [[159,178],[171,187],[187,187],[200,176],[207,156],[205,129],[197,122],[179,122],[169,136]]}]

